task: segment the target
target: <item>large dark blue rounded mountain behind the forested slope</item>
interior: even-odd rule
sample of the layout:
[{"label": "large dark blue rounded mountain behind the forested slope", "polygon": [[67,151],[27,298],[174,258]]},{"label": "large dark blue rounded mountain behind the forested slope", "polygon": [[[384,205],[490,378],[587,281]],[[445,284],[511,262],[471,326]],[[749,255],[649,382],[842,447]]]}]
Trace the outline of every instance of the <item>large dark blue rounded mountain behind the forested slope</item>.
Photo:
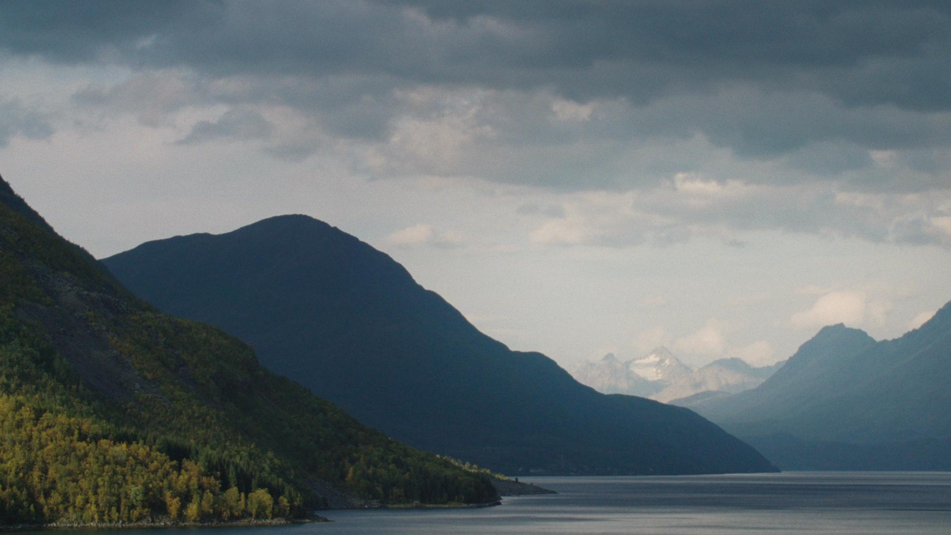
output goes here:
[{"label": "large dark blue rounded mountain behind the forested slope", "polygon": [[386,254],[316,219],[146,243],[104,261],[137,295],[412,446],[511,475],[772,470],[692,411],[599,394],[479,332]]}]

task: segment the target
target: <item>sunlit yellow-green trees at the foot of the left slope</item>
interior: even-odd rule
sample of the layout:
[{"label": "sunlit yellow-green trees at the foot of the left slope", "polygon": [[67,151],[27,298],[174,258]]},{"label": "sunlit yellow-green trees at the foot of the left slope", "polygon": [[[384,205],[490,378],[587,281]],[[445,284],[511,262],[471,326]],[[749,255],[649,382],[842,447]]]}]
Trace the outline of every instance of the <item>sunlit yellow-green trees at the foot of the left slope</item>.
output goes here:
[{"label": "sunlit yellow-green trees at the foot of the left slope", "polygon": [[0,504],[3,523],[132,523],[291,516],[300,495],[245,494],[197,463],[181,464],[143,444],[89,437],[95,425],[40,413],[0,395]]}]

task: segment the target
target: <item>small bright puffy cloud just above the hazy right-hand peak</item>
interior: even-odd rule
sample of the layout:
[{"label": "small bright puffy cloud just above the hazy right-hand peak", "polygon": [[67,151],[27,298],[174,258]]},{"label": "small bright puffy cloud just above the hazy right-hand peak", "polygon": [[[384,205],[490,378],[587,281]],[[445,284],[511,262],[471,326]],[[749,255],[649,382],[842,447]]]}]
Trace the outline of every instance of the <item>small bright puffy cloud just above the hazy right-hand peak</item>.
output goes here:
[{"label": "small bright puffy cloud just above the hazy right-hand peak", "polygon": [[793,314],[789,318],[789,325],[800,329],[840,323],[849,327],[877,326],[885,322],[891,307],[888,301],[869,299],[864,291],[828,291],[812,307]]}]

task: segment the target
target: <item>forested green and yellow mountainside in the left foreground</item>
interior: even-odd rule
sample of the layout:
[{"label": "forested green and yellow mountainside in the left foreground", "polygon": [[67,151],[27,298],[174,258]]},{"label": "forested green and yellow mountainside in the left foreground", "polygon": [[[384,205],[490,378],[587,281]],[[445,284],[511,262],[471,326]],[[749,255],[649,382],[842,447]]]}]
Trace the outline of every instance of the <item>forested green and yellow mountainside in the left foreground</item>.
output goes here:
[{"label": "forested green and yellow mountainside in the left foreground", "polygon": [[[327,371],[332,375],[332,371]],[[496,499],[135,298],[0,179],[0,525],[301,516]]]}]

